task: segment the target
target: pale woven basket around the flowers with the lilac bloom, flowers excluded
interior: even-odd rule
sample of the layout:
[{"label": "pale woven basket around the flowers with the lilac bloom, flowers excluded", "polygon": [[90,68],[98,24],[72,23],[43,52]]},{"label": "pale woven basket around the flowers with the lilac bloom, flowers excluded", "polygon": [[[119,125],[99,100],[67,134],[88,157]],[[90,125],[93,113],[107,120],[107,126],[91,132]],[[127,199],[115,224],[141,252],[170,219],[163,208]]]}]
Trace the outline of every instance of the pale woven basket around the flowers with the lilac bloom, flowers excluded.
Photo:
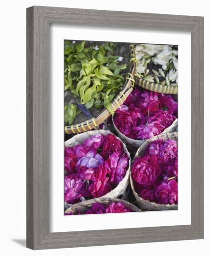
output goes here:
[{"label": "pale woven basket around the flowers with the lilac bloom, flowers excluded", "polygon": [[[73,136],[71,139],[69,139],[68,141],[65,141],[65,147],[69,148],[69,147],[74,147],[78,144],[82,145],[83,142],[94,136],[97,134],[101,134],[101,135],[108,135],[108,134],[112,134],[110,131],[105,131],[105,130],[95,130],[95,131],[87,131],[85,133],[81,133],[78,135]],[[120,140],[118,138],[118,140]],[[120,140],[121,141],[121,140]],[[123,143],[123,141],[121,141]],[[123,180],[121,182],[118,183],[118,186],[115,189],[112,189],[109,193],[107,193],[106,195],[103,195],[100,198],[114,198],[114,197],[118,197],[121,195],[122,199],[126,197],[126,193],[127,193],[127,187],[129,185],[129,175],[130,175],[130,169],[131,169],[131,157],[130,154],[125,146],[125,144],[123,143],[123,147],[124,147],[124,152],[127,153],[128,157],[129,157],[129,167],[126,171],[126,174],[123,178]]]}]

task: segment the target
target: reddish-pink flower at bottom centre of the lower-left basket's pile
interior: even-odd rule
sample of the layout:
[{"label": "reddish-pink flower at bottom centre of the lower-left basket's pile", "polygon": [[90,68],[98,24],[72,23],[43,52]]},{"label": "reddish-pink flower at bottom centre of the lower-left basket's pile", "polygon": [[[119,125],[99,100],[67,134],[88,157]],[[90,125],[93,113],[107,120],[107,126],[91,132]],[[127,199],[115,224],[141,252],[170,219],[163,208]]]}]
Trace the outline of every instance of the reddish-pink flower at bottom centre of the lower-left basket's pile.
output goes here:
[{"label": "reddish-pink flower at bottom centre of the lower-left basket's pile", "polygon": [[111,191],[111,185],[108,183],[107,171],[103,165],[99,165],[94,169],[94,174],[91,178],[92,182],[89,186],[89,192],[93,197],[100,197]]}]

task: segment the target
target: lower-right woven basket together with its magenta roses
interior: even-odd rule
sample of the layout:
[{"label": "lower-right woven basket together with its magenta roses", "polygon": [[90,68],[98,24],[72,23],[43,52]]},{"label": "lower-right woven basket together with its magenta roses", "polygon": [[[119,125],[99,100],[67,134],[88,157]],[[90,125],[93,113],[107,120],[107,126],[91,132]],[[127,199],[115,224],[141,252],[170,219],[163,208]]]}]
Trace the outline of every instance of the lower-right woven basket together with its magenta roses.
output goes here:
[{"label": "lower-right woven basket together with its magenta roses", "polygon": [[177,209],[177,155],[176,132],[157,135],[138,148],[131,166],[130,181],[140,209]]}]

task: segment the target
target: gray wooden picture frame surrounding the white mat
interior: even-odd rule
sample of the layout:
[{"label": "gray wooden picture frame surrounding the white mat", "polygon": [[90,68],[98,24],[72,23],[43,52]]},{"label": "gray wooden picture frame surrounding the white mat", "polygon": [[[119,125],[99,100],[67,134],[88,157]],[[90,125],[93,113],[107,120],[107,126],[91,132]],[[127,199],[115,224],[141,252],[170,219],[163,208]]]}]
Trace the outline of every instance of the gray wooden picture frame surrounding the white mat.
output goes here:
[{"label": "gray wooden picture frame surrounding the white mat", "polygon": [[[49,232],[51,23],[191,33],[191,225]],[[26,246],[31,249],[203,238],[203,17],[59,7],[27,8],[26,227]]]}]

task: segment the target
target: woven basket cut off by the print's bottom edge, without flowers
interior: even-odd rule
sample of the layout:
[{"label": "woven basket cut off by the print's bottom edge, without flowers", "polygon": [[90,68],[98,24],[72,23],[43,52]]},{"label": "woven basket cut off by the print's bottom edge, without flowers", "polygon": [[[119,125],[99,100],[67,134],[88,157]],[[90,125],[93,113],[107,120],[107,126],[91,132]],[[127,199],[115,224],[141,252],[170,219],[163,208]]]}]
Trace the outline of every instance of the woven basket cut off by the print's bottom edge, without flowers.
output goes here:
[{"label": "woven basket cut off by the print's bottom edge, without flowers", "polygon": [[121,200],[121,199],[118,199],[118,198],[94,198],[94,199],[90,199],[90,200],[79,202],[79,203],[76,203],[76,204],[72,205],[71,207],[69,207],[68,209],[65,210],[65,214],[70,214],[71,212],[73,214],[78,214],[78,211],[81,214],[85,214],[85,212],[89,208],[91,208],[92,204],[95,203],[95,202],[99,202],[99,203],[102,203],[104,205],[109,205],[111,202],[115,202],[115,203],[122,202],[127,209],[130,209],[133,212],[140,212],[141,211],[140,209],[138,209],[132,203]]}]

